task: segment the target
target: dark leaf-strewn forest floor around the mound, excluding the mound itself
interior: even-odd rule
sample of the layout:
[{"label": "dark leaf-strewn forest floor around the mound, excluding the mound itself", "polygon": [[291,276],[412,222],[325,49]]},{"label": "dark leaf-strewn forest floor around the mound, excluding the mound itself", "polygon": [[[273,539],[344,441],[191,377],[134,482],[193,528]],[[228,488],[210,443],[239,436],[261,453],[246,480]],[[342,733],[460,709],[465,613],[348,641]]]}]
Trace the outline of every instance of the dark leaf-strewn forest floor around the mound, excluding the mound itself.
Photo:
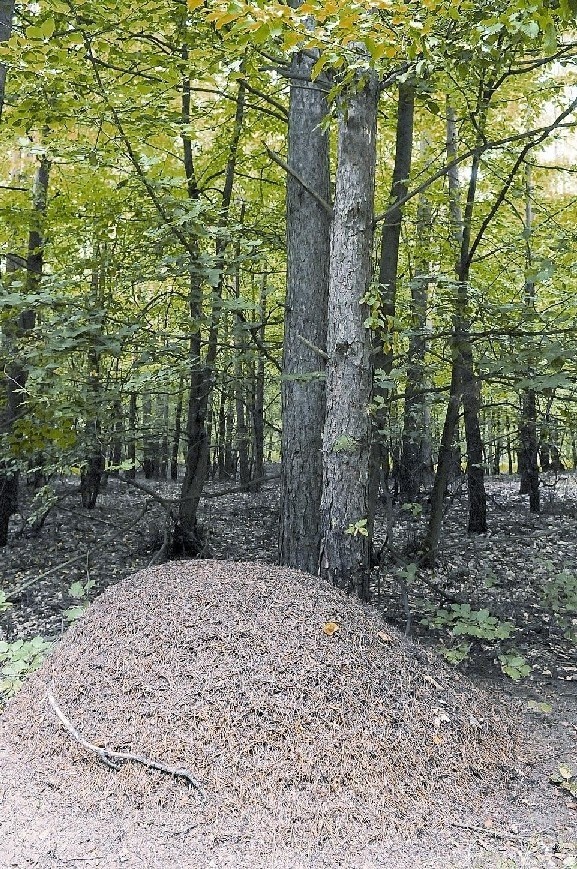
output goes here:
[{"label": "dark leaf-strewn forest floor around the mound, excluding the mound itself", "polygon": [[[274,475],[277,469],[269,471]],[[174,483],[147,485],[163,497],[177,494]],[[278,482],[272,480],[251,494],[229,489],[234,484],[211,484],[207,489],[202,514],[207,555],[274,563]],[[448,832],[431,833],[428,850],[421,841],[420,849],[425,848],[427,856],[419,858],[420,862],[416,857],[403,862],[400,856],[398,864],[366,865],[577,869],[577,798],[559,786],[562,782],[552,781],[560,766],[573,774],[577,770],[577,595],[573,581],[577,575],[577,478],[572,474],[545,476],[539,516],[529,514],[526,499],[517,494],[515,478],[491,479],[488,492],[490,532],[476,537],[466,534],[466,499],[457,489],[445,520],[438,566],[434,572],[417,575],[410,563],[402,567],[390,558],[388,547],[398,553],[416,540],[423,517],[383,504],[378,517],[383,563],[375,571],[373,603],[401,631],[409,628],[411,636],[426,645],[441,643],[449,655],[458,652],[463,637],[423,626],[427,602],[434,604],[430,621],[438,609],[450,616],[455,612],[452,605],[460,607],[468,601],[473,610],[486,608],[498,619],[513,623],[514,633],[498,649],[490,638],[467,635],[464,639],[471,644],[470,653],[458,669],[486,690],[520,705],[524,738],[540,746],[540,759],[525,776],[523,792],[512,794],[499,812],[488,803],[476,820],[465,819],[461,826],[455,822]],[[80,506],[77,484],[71,480],[60,481],[57,494],[58,504],[40,534],[13,535],[2,552],[0,590],[11,597],[13,606],[0,615],[0,639],[3,635],[9,641],[43,635],[57,641],[69,625],[66,610],[79,603],[70,593],[71,586],[90,584],[87,596],[92,600],[145,568],[162,539],[162,507],[122,481],[111,479],[93,510]],[[31,509],[24,499],[24,517]],[[21,524],[21,517],[16,516],[14,531]],[[506,678],[498,654],[508,655],[504,663],[513,661],[513,667],[523,659],[527,677],[518,682]],[[0,745],[0,755],[1,749]],[[449,847],[457,855],[450,863],[444,857]],[[405,858],[411,856],[405,853]],[[0,855],[1,869],[20,865],[34,864],[2,863]]]}]

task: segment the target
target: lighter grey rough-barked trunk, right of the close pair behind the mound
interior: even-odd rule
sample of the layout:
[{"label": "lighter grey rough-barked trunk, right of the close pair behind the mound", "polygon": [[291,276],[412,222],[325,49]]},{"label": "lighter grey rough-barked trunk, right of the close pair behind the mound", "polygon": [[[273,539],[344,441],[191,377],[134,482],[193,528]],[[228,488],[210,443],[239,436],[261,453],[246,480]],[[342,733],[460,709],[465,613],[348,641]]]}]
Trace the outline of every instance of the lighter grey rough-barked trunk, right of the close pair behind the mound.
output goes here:
[{"label": "lighter grey rough-barked trunk, right of the close pair behind the mound", "polygon": [[327,411],[323,433],[321,574],[369,594],[371,342],[364,301],[372,277],[378,84],[369,74],[339,120],[331,233]]}]

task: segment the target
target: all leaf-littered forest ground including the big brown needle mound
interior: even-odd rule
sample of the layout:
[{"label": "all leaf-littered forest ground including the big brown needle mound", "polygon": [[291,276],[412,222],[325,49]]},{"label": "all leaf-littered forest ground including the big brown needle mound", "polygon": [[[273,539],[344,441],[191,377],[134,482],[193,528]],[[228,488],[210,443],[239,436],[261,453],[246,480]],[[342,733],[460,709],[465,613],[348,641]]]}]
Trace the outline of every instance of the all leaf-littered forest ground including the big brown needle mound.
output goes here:
[{"label": "all leaf-littered forest ground including the big brown needle mound", "polygon": [[[546,481],[538,517],[517,481],[491,481],[475,538],[456,491],[435,572],[403,555],[423,515],[384,504],[377,612],[269,566],[276,482],[209,488],[207,547],[237,565],[120,585],[153,557],[162,508],[113,480],[85,511],[59,487],[40,534],[3,553],[5,646],[57,640],[112,588],[1,719],[0,866],[577,866],[573,477]],[[202,792],[103,766],[49,688],[83,737],[184,765]]]}]

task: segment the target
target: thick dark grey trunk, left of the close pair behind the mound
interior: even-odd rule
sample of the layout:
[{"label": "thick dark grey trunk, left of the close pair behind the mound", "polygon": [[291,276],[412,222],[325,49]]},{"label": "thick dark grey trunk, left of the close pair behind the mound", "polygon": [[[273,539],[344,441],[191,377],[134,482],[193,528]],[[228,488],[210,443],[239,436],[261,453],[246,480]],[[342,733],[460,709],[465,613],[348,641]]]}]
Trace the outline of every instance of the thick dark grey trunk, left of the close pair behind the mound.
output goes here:
[{"label": "thick dark grey trunk, left of the close pair behind the mound", "polygon": [[[322,84],[310,82],[314,63],[308,53],[293,58],[288,165],[328,203],[328,105]],[[289,173],[279,560],[309,573],[317,572],[320,543],[329,250],[327,209]]]}]

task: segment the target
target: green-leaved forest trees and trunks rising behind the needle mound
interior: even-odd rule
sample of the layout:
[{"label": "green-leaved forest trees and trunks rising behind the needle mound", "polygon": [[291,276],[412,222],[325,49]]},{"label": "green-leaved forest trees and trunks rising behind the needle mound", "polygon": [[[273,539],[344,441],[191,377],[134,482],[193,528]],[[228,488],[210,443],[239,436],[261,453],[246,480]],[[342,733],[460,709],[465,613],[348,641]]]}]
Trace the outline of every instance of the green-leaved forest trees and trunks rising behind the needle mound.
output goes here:
[{"label": "green-leaved forest trees and trunks rising behind the needle mound", "polygon": [[[282,563],[432,566],[452,482],[577,464],[573,11],[0,4],[0,543],[76,475],[281,461]],[[28,490],[30,491],[30,489]],[[381,502],[426,516],[373,545]],[[380,548],[379,548],[380,547]],[[390,547],[389,547],[390,548]]]}]

